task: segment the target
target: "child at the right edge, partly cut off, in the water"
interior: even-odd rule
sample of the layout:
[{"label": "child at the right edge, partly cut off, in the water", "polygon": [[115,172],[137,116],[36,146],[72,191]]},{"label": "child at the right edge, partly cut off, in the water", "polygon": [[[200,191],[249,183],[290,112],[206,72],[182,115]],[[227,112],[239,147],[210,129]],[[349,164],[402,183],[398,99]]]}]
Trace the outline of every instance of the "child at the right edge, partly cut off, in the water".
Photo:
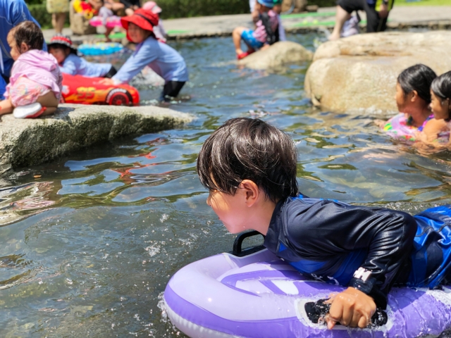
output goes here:
[{"label": "child at the right edge, partly cut off, in the water", "polygon": [[435,77],[431,83],[431,111],[418,138],[425,144],[438,148],[451,146],[451,71]]}]

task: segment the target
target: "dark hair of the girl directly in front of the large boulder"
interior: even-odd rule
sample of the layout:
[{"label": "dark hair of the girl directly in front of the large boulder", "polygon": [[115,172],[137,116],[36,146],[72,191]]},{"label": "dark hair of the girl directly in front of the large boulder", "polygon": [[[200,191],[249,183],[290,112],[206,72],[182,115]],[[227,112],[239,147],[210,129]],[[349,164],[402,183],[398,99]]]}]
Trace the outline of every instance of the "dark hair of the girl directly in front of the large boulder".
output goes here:
[{"label": "dark hair of the girl directly in front of the large boulder", "polygon": [[437,77],[435,72],[427,65],[418,63],[402,70],[397,77],[404,94],[416,91],[427,104],[431,103],[431,83]]}]

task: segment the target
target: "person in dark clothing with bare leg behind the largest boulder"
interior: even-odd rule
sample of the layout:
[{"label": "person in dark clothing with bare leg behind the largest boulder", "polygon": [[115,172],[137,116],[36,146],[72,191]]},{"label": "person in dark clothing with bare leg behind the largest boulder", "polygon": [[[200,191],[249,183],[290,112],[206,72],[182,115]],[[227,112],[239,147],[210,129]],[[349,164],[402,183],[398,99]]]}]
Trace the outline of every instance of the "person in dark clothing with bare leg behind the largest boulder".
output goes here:
[{"label": "person in dark clothing with bare leg behind the largest boulder", "polygon": [[330,40],[340,39],[340,32],[353,11],[365,11],[366,32],[383,32],[387,27],[388,13],[395,0],[338,0],[335,27]]}]

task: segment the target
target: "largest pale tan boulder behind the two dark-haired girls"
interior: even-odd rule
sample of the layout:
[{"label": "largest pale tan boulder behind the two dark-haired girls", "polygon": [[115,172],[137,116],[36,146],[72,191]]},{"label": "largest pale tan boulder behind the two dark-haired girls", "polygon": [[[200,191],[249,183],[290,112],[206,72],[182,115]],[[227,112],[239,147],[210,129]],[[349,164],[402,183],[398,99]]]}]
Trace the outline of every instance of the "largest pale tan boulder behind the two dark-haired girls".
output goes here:
[{"label": "largest pale tan boulder behind the two dark-haired girls", "polygon": [[314,104],[333,111],[396,111],[397,76],[424,63],[451,70],[451,31],[354,35],[319,46],[305,77]]}]

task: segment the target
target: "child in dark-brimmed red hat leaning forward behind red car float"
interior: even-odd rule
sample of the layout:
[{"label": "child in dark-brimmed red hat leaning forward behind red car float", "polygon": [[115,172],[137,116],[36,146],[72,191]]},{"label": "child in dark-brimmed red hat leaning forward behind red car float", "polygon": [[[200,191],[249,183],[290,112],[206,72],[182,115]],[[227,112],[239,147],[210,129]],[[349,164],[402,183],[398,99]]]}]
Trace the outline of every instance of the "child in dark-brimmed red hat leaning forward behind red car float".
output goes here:
[{"label": "child in dark-brimmed red hat leaning forward behind red car float", "polygon": [[66,35],[57,34],[47,44],[49,53],[58,61],[61,72],[85,77],[112,77],[117,73],[111,63],[90,63],[80,58],[72,40]]}]

